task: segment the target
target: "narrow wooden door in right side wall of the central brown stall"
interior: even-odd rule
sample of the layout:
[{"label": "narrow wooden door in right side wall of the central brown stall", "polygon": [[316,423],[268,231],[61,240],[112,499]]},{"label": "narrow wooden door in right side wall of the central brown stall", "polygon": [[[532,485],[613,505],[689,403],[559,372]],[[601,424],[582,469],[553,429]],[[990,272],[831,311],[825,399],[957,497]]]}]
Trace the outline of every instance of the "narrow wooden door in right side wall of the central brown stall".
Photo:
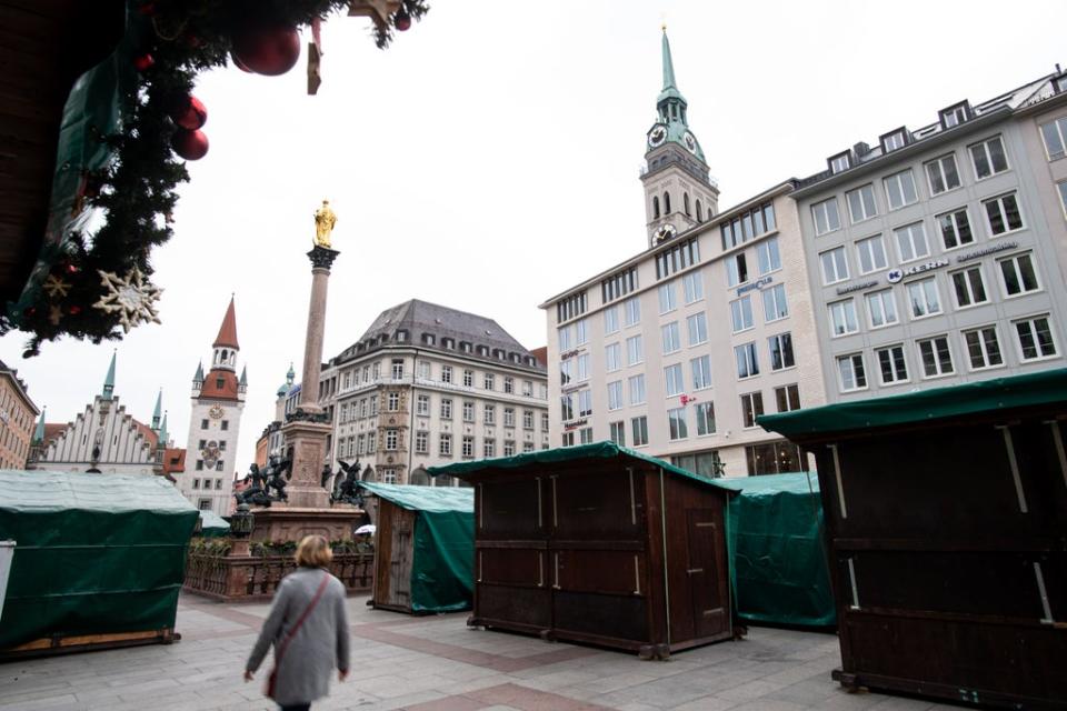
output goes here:
[{"label": "narrow wooden door in right side wall of the central brown stall", "polygon": [[[722,512],[716,509],[686,510],[686,539],[689,558],[686,574],[692,600],[696,639],[722,634],[729,629],[726,581],[719,574],[722,549]],[[725,550],[725,549],[722,549]]]}]

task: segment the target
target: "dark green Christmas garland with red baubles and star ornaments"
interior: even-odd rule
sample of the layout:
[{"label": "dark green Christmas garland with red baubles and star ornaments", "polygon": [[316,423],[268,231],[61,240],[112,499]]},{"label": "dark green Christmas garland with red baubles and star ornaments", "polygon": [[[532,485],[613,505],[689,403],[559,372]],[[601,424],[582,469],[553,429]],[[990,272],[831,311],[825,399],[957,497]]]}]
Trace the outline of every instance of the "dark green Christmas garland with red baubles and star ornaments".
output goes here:
[{"label": "dark green Christmas garland with red baubles and star ornaments", "polygon": [[[172,234],[174,190],[189,180],[181,158],[208,150],[199,130],[207,110],[191,93],[197,74],[231,62],[283,73],[299,58],[297,28],[317,30],[343,9],[371,17],[375,43],[386,48],[429,8],[425,0],[129,0],[123,39],[71,94],[106,84],[117,116],[88,121],[80,140],[64,142],[61,134],[44,246],[21,298],[0,314],[0,333],[31,333],[30,357],[60,336],[99,343],[158,322],[161,290],[148,281],[149,257]],[[107,113],[99,96],[86,93],[86,116]],[[89,148],[64,159],[68,143]],[[91,233],[87,208],[103,214]]]}]

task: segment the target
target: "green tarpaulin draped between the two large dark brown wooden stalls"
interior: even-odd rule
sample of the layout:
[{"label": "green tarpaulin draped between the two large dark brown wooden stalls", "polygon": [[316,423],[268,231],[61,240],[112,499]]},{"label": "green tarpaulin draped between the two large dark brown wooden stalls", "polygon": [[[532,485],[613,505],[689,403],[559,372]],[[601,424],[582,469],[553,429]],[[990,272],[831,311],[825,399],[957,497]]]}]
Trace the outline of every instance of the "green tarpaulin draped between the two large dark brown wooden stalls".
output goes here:
[{"label": "green tarpaulin draped between the two large dark brown wooden stalls", "polygon": [[738,492],[730,497],[727,522],[738,617],[757,623],[835,624],[818,475],[798,472],[718,482]]}]

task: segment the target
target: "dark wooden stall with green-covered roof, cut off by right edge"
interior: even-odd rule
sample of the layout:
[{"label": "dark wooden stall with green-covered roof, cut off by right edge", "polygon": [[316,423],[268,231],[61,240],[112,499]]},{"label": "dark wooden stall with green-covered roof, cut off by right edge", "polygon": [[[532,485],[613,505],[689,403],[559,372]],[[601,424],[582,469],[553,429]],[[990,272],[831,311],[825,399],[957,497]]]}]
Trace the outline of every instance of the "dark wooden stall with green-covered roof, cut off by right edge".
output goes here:
[{"label": "dark wooden stall with green-covered roof, cut off by right edge", "polygon": [[766,415],[819,470],[841,669],[1067,709],[1067,370]]}]

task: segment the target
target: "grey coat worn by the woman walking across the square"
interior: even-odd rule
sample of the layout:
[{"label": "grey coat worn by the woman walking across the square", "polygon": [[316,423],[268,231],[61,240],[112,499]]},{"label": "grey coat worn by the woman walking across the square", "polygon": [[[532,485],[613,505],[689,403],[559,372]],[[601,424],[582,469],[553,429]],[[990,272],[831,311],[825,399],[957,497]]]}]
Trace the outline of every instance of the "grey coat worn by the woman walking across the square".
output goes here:
[{"label": "grey coat worn by the woman walking across the square", "polygon": [[252,648],[245,668],[256,671],[271,644],[275,647],[277,664],[278,645],[310,604],[322,583],[322,575],[329,575],[330,582],[289,642],[278,667],[275,701],[282,705],[310,703],[325,697],[330,690],[333,668],[348,671],[345,585],[320,568],[298,568],[282,579],[275,593],[270,614],[263,622],[263,629],[259,632],[259,639],[256,640],[256,647]]}]

